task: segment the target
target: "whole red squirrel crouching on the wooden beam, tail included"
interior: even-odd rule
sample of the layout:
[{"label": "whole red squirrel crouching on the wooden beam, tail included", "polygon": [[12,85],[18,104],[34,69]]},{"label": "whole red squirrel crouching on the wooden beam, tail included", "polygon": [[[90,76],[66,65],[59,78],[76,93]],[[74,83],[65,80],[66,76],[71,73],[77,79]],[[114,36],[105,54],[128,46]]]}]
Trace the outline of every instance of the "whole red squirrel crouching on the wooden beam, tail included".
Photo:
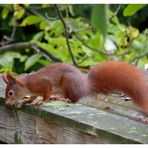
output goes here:
[{"label": "whole red squirrel crouching on the wooden beam, tail included", "polygon": [[93,94],[121,91],[130,96],[144,112],[148,112],[148,85],[143,74],[124,62],[105,62],[94,66],[88,75],[68,64],[51,64],[37,72],[15,77],[3,74],[7,84],[6,104],[14,105],[26,95],[31,97],[23,103],[32,102],[37,96],[49,101],[52,92],[59,89],[71,102]]}]

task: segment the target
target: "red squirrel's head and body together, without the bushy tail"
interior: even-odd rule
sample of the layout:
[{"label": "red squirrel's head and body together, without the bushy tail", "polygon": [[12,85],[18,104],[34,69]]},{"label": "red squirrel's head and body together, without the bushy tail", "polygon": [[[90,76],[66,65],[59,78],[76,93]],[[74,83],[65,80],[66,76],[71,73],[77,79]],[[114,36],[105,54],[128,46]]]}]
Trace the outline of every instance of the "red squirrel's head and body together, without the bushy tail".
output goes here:
[{"label": "red squirrel's head and body together, without the bushy tail", "polygon": [[[88,94],[87,78],[77,68],[68,64],[52,64],[21,77],[3,75],[3,80],[7,83],[6,103],[10,105],[15,104],[25,95],[31,95],[34,98],[43,96],[43,101],[47,102],[53,91],[60,91],[72,102]],[[10,90],[14,91],[13,96],[8,95]]]}]

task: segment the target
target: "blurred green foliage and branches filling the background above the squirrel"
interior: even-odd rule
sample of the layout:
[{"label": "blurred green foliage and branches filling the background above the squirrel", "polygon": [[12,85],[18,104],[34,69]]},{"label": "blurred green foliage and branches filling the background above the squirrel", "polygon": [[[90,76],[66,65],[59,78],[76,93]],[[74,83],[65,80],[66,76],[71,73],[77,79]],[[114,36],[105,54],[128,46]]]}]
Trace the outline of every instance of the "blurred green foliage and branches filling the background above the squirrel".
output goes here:
[{"label": "blurred green foliage and branches filling the background above the squirrel", "polygon": [[148,5],[0,4],[1,73],[107,60],[146,66]]}]

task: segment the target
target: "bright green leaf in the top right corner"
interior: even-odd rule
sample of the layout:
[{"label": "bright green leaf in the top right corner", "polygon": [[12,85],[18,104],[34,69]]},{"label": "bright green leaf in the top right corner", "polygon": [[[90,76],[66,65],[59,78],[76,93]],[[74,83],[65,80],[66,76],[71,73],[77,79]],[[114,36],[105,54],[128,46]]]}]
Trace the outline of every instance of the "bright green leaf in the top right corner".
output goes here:
[{"label": "bright green leaf in the top right corner", "polygon": [[134,15],[137,11],[142,9],[145,5],[146,4],[130,4],[124,9],[123,15],[124,16]]}]

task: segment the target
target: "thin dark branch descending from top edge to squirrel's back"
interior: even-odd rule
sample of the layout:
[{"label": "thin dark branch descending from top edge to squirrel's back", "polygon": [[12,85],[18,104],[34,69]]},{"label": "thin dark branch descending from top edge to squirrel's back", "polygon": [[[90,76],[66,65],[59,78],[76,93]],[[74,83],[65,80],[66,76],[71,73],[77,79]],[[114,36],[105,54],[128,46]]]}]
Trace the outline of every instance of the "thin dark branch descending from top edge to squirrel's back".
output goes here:
[{"label": "thin dark branch descending from top edge to squirrel's back", "polygon": [[77,63],[76,63],[76,61],[75,61],[75,59],[74,59],[74,55],[73,55],[72,50],[71,50],[71,47],[70,47],[69,36],[68,36],[68,32],[67,32],[66,23],[65,23],[65,21],[64,21],[64,19],[63,19],[63,17],[62,17],[61,12],[59,11],[57,5],[54,4],[53,6],[54,6],[54,8],[55,8],[55,10],[56,10],[56,13],[58,14],[58,16],[59,16],[59,18],[60,18],[62,24],[63,24],[64,31],[65,31],[65,37],[66,37],[66,43],[67,43],[68,51],[69,51],[69,54],[70,54],[70,56],[71,56],[72,62],[73,62],[73,64],[74,64],[75,66],[77,66]]}]

